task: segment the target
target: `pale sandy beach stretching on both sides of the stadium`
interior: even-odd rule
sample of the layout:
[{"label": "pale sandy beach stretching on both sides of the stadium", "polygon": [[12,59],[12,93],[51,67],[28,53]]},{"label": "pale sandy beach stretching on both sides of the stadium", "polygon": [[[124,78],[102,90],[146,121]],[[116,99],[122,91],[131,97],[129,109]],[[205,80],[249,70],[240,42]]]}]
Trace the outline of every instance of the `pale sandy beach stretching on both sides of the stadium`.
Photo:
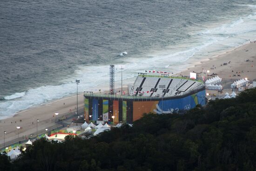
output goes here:
[{"label": "pale sandy beach stretching on both sides of the stadium", "polygon": [[[230,61],[230,62],[229,62]],[[223,65],[223,63],[228,63]],[[220,54],[216,57],[203,60],[195,66],[191,66],[188,70],[175,74],[175,76],[189,75],[189,72],[202,72],[202,69],[209,70],[209,74],[216,73],[222,78],[222,86],[224,92],[231,92],[230,83],[235,80],[248,78],[250,82],[256,79],[256,43],[248,43],[236,49],[229,50],[226,53]],[[233,72],[232,72],[233,71]],[[236,76],[233,76],[236,74]],[[237,76],[240,74],[240,76]],[[202,74],[204,75],[204,74]],[[206,75],[205,75],[206,76]],[[206,76],[210,78],[210,76]],[[86,91],[86,90],[85,90]],[[208,91],[217,93],[216,91]],[[101,92],[104,93],[104,92]],[[83,94],[78,96],[78,108],[83,108]],[[76,95],[58,99],[46,105],[31,108],[25,111],[18,112],[13,118],[0,120],[0,143],[3,143],[4,131],[6,141],[17,138],[16,126],[21,126],[20,137],[29,135],[36,131],[36,120],[40,120],[38,130],[43,130],[55,123],[49,120],[54,119],[54,113],[59,115],[74,113],[76,111]]]}]

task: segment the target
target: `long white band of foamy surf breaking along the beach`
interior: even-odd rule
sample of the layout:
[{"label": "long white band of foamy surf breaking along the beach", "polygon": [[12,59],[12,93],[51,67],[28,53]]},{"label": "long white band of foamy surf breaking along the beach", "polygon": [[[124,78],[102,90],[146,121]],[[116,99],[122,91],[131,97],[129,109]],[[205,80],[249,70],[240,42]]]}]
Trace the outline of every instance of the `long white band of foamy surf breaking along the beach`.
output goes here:
[{"label": "long white band of foamy surf breaking along the beach", "polygon": [[[168,50],[145,53],[146,57],[131,56],[123,59],[122,64],[126,68],[123,70],[123,84],[131,83],[137,72],[145,70],[164,70],[168,72],[180,72],[191,65],[187,62],[189,59],[208,58],[225,48],[239,46],[256,38],[256,20],[255,14],[247,17],[237,18],[221,26],[204,26],[206,29],[193,32],[191,38],[183,44],[171,46]],[[128,54],[120,53],[120,56]],[[130,56],[130,55],[129,55]],[[198,61],[197,61],[198,62]],[[15,112],[27,109],[29,107],[40,105],[49,100],[59,99],[76,92],[75,79],[80,79],[78,86],[79,92],[93,91],[97,92],[99,85],[108,85],[109,82],[109,65],[99,66],[77,66],[78,69],[70,79],[63,80],[61,85],[47,85],[27,92],[14,93],[5,97],[0,102],[0,118],[12,116]],[[121,70],[115,68],[115,87],[121,86]],[[102,90],[103,88],[101,88]]]}]

